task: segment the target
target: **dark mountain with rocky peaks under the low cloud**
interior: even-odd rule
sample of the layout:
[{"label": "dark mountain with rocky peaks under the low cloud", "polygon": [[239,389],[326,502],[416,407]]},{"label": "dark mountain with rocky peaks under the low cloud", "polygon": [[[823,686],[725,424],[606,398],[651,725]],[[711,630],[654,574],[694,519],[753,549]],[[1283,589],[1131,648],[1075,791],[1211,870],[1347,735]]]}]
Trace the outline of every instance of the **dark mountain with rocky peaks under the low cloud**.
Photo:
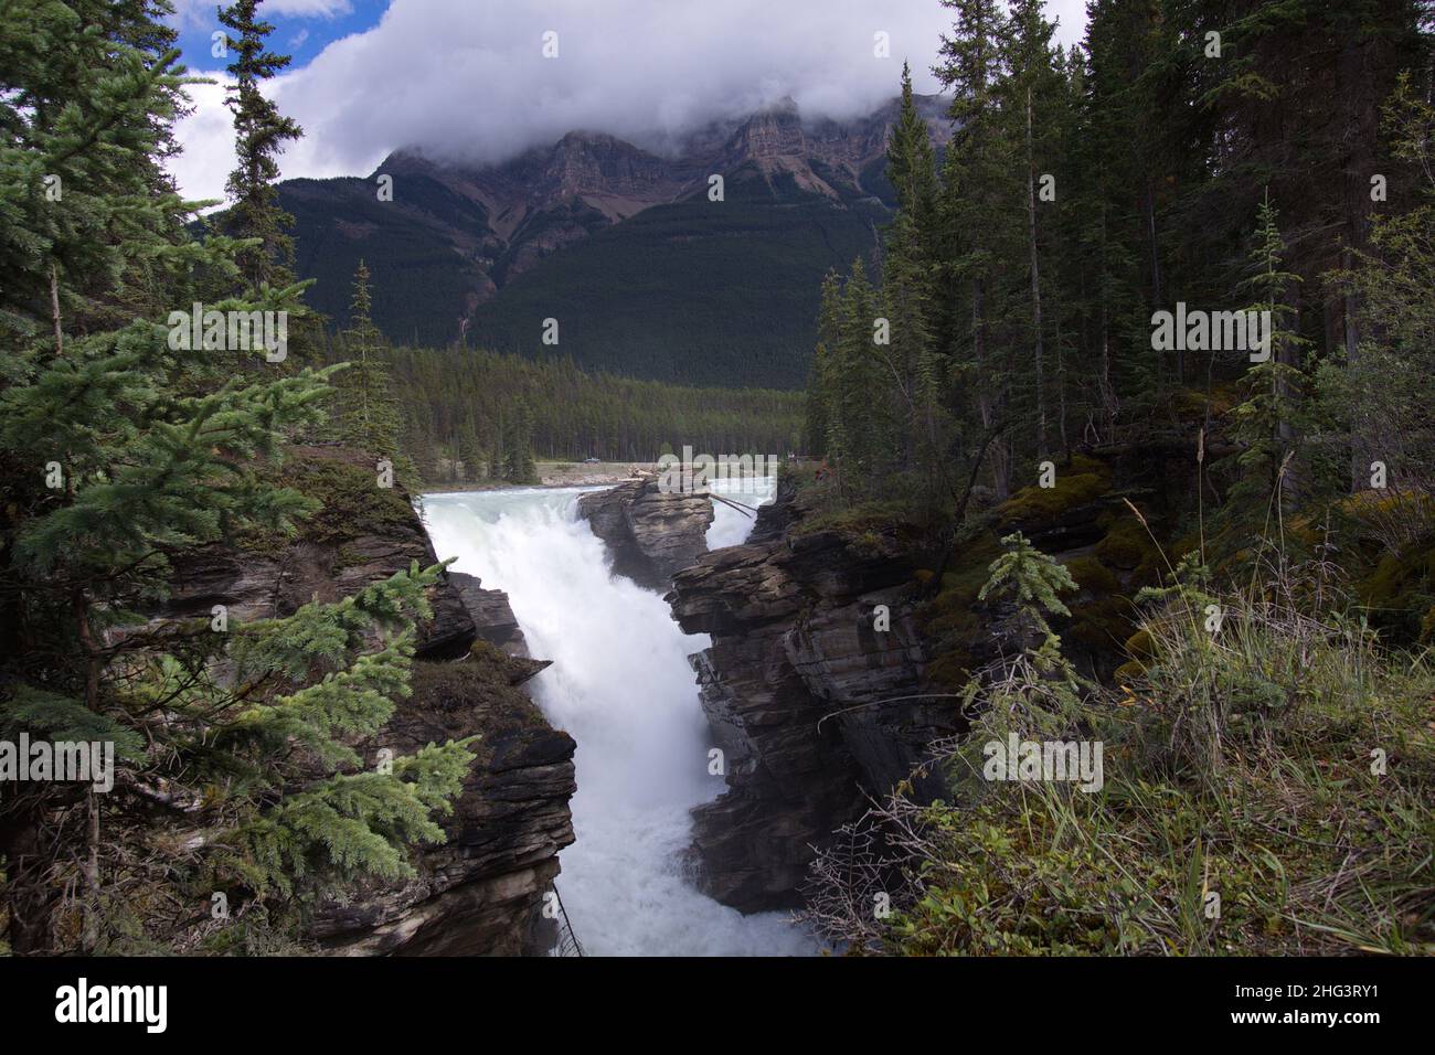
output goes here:
[{"label": "dark mountain with rocky peaks under the low cloud", "polygon": [[[938,149],[943,100],[918,106]],[[891,214],[897,100],[848,122],[791,100],[659,156],[575,131],[499,165],[399,151],[367,178],[290,179],[309,301],[342,326],[363,258],[390,340],[464,342],[703,385],[796,388],[828,268],[870,255]],[[379,201],[379,177],[393,178]],[[722,175],[723,201],[709,200]],[[542,343],[558,320],[558,344]],[[466,330],[466,332],[465,332]]]}]

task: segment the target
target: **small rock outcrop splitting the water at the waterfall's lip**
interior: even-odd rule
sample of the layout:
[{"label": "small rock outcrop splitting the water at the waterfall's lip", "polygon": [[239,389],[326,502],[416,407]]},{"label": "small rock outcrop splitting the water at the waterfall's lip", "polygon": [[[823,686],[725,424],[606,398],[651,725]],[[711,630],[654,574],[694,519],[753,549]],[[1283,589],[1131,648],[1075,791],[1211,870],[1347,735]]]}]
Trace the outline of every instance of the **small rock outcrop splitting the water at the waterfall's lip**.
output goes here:
[{"label": "small rock outcrop splitting the water at the waterfall's lip", "polygon": [[643,477],[583,495],[578,515],[607,543],[614,571],[666,590],[674,573],[707,553],[713,505],[703,494],[666,494],[654,477]]}]

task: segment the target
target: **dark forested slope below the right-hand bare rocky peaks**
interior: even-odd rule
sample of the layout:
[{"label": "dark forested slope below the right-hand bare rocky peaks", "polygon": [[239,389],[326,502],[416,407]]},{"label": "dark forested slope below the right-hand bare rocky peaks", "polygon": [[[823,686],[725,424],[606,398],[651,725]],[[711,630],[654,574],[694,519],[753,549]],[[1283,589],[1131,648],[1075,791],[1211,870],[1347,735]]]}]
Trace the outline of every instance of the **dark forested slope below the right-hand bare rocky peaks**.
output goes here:
[{"label": "dark forested slope below the right-hand bare rocky peaks", "polygon": [[472,316],[471,340],[540,355],[544,320],[590,369],[730,388],[801,388],[822,274],[875,244],[888,211],[834,202],[755,167],[728,200],[656,205],[515,277]]}]

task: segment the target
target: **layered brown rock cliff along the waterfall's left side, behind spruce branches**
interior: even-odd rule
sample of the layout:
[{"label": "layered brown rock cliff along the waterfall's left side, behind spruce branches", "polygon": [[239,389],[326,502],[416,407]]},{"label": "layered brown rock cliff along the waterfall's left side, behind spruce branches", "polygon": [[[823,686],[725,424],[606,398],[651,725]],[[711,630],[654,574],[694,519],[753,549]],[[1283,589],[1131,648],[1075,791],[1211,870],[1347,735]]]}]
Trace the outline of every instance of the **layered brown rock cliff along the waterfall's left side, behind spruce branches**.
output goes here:
[{"label": "layered brown rock cliff along the waterfall's left side, behind spruce branches", "polygon": [[[376,487],[372,459],[296,448],[280,472],[323,508],[296,538],[244,538],[187,558],[155,623],[208,619],[215,604],[231,622],[287,616],[412,561],[438,563],[409,495]],[[419,626],[412,695],[354,746],[373,759],[380,748],[403,755],[478,735],[476,761],[453,812],[439,818],[446,841],[418,848],[418,877],[369,884],[319,906],[309,937],[346,955],[541,953],[554,937],[542,899],[558,873],[558,851],[574,838],[574,742],[519,688],[548,663],[527,659],[502,591],[446,573],[429,603],[433,617]]]}]

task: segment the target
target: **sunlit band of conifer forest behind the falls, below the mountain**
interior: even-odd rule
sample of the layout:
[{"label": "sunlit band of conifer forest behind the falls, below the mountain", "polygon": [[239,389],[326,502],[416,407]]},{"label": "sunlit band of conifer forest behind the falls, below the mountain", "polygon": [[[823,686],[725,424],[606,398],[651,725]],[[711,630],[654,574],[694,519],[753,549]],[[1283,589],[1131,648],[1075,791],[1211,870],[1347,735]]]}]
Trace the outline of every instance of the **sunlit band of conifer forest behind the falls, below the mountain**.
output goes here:
[{"label": "sunlit band of conifer forest behind the falls, below the mountain", "polygon": [[314,435],[397,458],[415,487],[537,482],[535,459],[656,461],[666,451],[769,455],[802,438],[802,396],[634,380],[469,349],[392,347],[373,323],[367,264],[353,277],[347,326],[314,333],[306,355],[339,366]]}]

